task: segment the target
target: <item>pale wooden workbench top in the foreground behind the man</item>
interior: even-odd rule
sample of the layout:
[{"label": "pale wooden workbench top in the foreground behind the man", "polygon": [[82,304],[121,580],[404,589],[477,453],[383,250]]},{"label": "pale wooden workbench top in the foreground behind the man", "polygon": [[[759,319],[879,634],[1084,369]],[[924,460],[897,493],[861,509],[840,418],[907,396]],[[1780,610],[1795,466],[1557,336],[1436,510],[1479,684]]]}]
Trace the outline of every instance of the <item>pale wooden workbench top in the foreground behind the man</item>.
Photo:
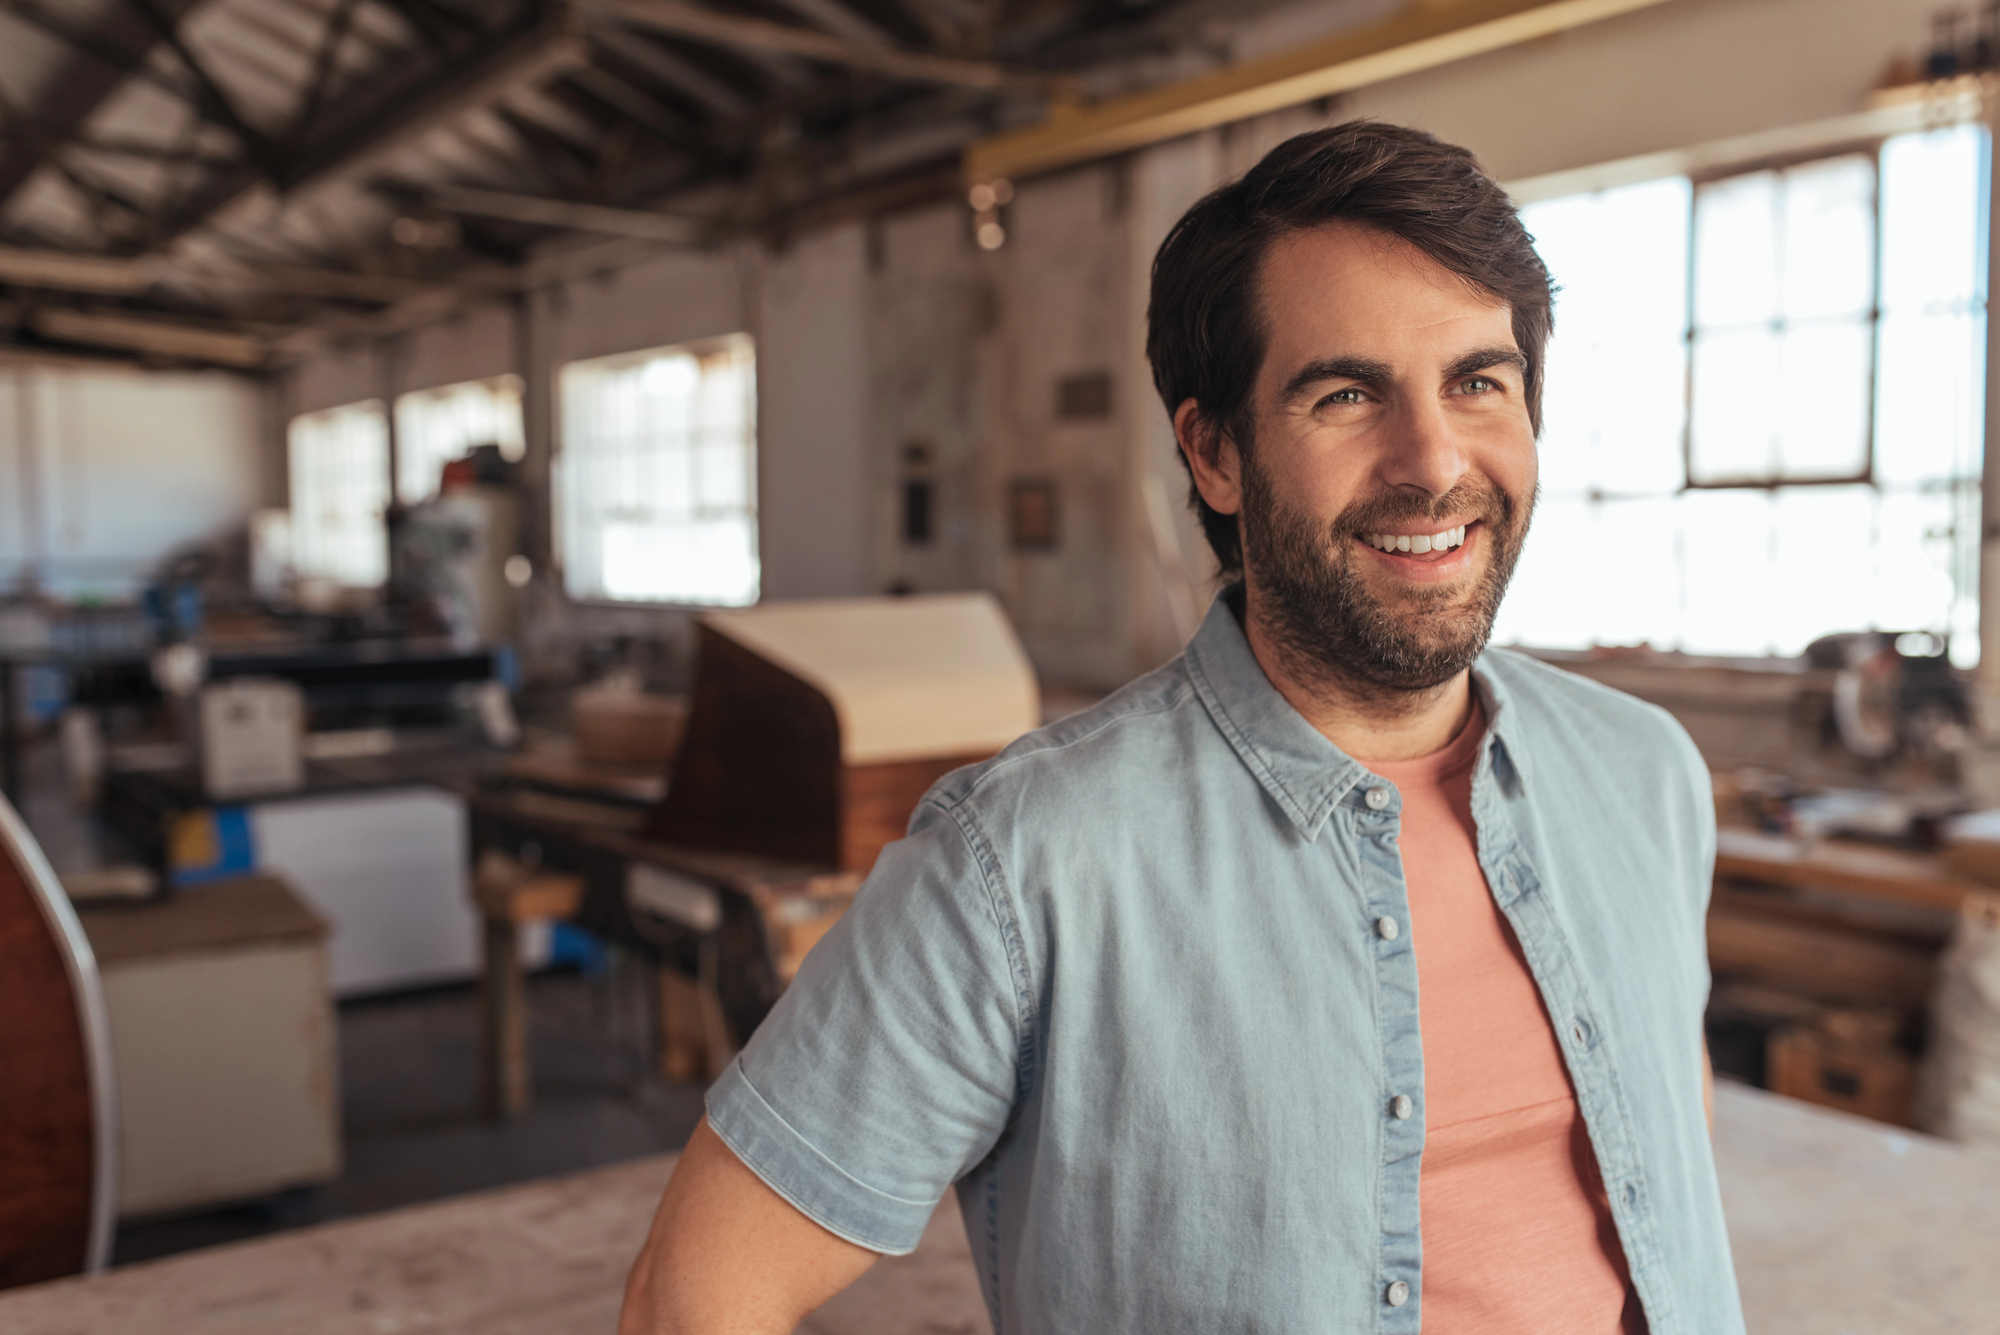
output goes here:
[{"label": "pale wooden workbench top in the foreground behind the man", "polygon": [[[1750,1335],[2000,1329],[2000,1157],[1716,1087],[1716,1161]],[[672,1157],[0,1293],[8,1335],[610,1335]],[[956,1203],[808,1335],[976,1335]]]}]

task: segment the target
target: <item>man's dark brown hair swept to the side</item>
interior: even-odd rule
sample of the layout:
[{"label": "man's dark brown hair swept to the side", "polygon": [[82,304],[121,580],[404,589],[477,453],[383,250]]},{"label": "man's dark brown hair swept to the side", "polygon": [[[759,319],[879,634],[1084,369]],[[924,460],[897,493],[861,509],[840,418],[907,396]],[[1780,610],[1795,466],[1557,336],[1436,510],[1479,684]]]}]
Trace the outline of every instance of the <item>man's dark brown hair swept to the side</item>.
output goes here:
[{"label": "man's dark brown hair swept to the side", "polygon": [[[1514,202],[1454,144],[1372,120],[1298,134],[1190,208],[1152,260],[1146,358],[1168,416],[1190,398],[1238,450],[1252,446],[1250,388],[1264,364],[1258,270],[1282,236],[1352,222],[1398,236],[1506,302],[1528,360],[1528,420],[1542,432],[1550,282]],[[1186,458],[1182,458],[1186,466]],[[1242,570],[1236,516],[1188,494],[1224,574]]]}]

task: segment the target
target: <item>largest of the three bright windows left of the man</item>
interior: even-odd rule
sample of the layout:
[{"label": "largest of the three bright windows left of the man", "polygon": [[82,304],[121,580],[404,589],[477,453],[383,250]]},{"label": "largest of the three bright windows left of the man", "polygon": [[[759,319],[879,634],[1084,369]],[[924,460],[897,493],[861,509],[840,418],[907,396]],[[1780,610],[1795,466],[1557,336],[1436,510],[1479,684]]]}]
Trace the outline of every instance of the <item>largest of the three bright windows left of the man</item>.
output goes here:
[{"label": "largest of the three bright windows left of the man", "polygon": [[562,368],[556,538],[572,598],[758,598],[748,334]]}]

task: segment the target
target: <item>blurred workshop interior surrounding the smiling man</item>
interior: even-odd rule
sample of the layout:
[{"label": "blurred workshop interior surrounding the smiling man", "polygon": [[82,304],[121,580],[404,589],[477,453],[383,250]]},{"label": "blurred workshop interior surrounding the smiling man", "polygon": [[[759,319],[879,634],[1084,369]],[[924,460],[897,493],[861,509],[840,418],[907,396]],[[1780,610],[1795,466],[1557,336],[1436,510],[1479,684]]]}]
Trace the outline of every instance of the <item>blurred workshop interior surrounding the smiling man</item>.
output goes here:
[{"label": "blurred workshop interior surrounding the smiling man", "polygon": [[0,0],[0,1329],[614,1329],[926,789],[1196,634],[1150,266],[1354,118],[1558,284],[1492,644],[1708,765],[1748,1329],[1992,1329],[1986,0]]}]

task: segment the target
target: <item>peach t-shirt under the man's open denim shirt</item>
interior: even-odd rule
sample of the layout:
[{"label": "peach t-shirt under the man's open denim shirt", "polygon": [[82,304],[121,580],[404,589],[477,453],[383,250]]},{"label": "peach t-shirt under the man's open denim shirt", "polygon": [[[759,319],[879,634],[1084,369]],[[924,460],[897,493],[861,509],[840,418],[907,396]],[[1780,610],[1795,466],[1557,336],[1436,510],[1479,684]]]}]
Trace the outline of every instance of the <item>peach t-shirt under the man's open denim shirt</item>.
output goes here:
[{"label": "peach t-shirt under the man's open denim shirt", "polygon": [[1646,1329],[1556,1031],[1476,855],[1474,701],[1432,755],[1372,763],[1402,793],[1424,1035],[1424,1335]]}]

